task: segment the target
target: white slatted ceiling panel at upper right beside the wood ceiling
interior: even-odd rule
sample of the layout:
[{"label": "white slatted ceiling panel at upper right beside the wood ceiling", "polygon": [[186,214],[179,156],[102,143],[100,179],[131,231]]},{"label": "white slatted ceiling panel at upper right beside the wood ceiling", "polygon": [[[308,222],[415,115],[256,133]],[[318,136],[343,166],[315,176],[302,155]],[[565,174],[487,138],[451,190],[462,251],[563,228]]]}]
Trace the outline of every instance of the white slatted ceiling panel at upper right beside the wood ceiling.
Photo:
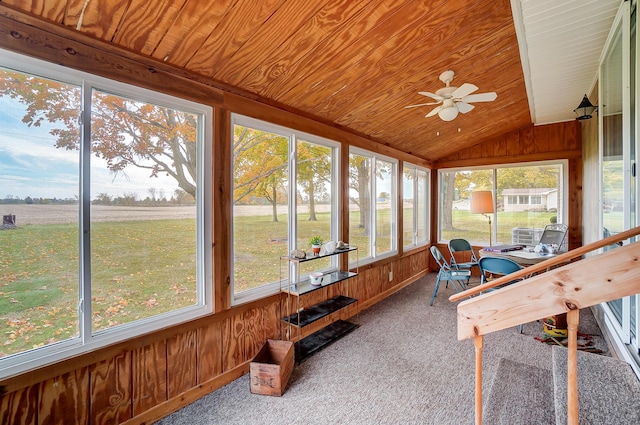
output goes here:
[{"label": "white slatted ceiling panel at upper right beside the wood ceiling", "polygon": [[624,0],[511,0],[531,121],[575,119]]}]

